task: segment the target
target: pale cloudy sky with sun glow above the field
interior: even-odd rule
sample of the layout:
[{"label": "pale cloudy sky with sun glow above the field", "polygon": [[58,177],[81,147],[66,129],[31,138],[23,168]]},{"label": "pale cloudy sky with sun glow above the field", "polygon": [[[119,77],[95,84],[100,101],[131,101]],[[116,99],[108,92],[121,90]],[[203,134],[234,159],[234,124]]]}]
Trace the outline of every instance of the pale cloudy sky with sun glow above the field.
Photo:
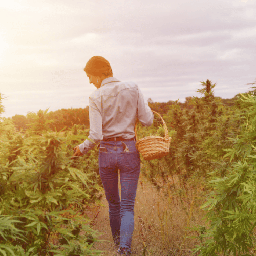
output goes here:
[{"label": "pale cloudy sky with sun glow above the field", "polygon": [[95,55],[145,100],[233,98],[256,79],[255,0],[0,0],[1,117],[85,108]]}]

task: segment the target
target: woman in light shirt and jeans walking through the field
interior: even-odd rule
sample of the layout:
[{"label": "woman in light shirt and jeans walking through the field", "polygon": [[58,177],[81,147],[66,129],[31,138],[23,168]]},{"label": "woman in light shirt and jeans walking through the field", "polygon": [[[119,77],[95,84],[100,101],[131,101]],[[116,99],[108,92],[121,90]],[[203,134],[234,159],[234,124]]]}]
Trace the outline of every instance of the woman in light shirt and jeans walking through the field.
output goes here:
[{"label": "woman in light shirt and jeans walking through the field", "polygon": [[153,113],[137,84],[114,78],[105,58],[92,57],[84,71],[97,90],[89,97],[90,140],[76,146],[74,156],[86,154],[100,143],[99,173],[109,204],[113,240],[120,254],[131,255],[134,202],[140,174],[134,127],[137,118],[143,125],[150,126]]}]

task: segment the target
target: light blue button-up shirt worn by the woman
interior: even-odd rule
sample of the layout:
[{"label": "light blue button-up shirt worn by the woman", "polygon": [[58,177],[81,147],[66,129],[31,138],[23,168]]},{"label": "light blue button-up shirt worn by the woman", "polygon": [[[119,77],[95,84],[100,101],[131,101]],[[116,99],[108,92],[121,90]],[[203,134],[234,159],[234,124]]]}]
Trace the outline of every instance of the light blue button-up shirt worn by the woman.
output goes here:
[{"label": "light blue button-up shirt worn by the woman", "polygon": [[121,82],[108,77],[100,88],[89,96],[90,140],[79,145],[82,154],[86,154],[103,138],[135,136],[136,119],[145,125],[153,123],[153,113],[144,101],[143,95],[134,82]]}]

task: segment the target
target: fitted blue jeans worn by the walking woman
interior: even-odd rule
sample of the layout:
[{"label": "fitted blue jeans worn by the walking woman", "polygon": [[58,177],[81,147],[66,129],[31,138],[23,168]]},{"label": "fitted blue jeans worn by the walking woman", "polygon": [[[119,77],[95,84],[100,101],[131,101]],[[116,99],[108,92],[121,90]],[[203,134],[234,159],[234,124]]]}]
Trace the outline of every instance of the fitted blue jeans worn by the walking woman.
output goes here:
[{"label": "fitted blue jeans worn by the walking woman", "polygon": [[[134,140],[100,142],[99,173],[109,204],[110,228],[116,246],[131,247],[134,230],[134,202],[140,174],[140,156]],[[120,174],[121,200],[118,189]]]}]

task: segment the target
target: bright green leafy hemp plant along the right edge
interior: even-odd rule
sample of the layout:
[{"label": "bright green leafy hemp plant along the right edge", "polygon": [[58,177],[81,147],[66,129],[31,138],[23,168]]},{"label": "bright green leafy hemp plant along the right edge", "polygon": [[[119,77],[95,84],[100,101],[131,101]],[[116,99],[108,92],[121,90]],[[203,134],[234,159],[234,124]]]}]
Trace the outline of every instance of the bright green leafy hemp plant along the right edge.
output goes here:
[{"label": "bright green leafy hemp plant along the right edge", "polygon": [[209,181],[212,192],[202,206],[209,228],[198,228],[201,244],[194,251],[201,256],[255,255],[256,96],[240,95],[238,103],[244,123],[223,157],[230,166],[223,177],[216,169],[218,176]]}]

